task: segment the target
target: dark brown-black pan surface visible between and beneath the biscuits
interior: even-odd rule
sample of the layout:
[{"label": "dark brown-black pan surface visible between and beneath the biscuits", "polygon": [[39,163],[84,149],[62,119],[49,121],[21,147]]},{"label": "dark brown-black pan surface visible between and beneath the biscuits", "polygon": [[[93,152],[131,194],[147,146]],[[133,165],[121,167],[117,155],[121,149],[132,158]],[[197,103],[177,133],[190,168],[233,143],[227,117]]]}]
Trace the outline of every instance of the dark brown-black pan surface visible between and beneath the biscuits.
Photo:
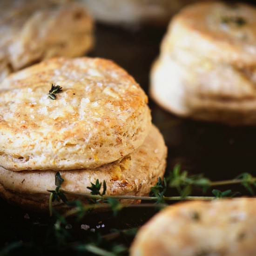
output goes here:
[{"label": "dark brown-black pan surface visible between and beneath the biscuits", "polygon": [[[149,70],[159,53],[165,29],[97,24],[96,47],[90,56],[114,60],[132,74],[148,93]],[[181,119],[164,111],[151,100],[149,105],[153,122],[160,128],[168,146],[166,175],[177,163],[189,174],[203,173],[211,180],[231,179],[243,172],[250,172],[252,175],[256,173],[256,128],[236,128]],[[229,188],[249,195],[241,186]],[[175,191],[168,191],[168,194],[176,195]],[[209,191],[208,195],[210,194]],[[195,191],[195,195],[201,194]],[[117,216],[113,216],[111,212],[101,212],[85,216],[80,222],[74,221],[72,228],[67,226],[67,229],[71,228],[69,231],[75,244],[83,237],[94,236],[94,229],[107,234],[112,229],[139,227],[155,212],[152,208],[122,210]],[[7,248],[5,255],[56,255],[56,244],[51,244],[52,234],[48,233],[52,220],[46,214],[24,211],[0,200],[0,220],[0,243],[1,248]],[[81,225],[87,226],[82,226],[81,229]],[[84,230],[88,226],[89,231]],[[44,246],[45,239],[50,241],[48,247]],[[129,246],[131,238],[119,237],[116,241],[120,239],[120,243]],[[26,245],[22,249],[19,248],[21,243]],[[16,246],[16,249],[11,250],[7,245]],[[66,254],[68,250],[61,253]]]}]

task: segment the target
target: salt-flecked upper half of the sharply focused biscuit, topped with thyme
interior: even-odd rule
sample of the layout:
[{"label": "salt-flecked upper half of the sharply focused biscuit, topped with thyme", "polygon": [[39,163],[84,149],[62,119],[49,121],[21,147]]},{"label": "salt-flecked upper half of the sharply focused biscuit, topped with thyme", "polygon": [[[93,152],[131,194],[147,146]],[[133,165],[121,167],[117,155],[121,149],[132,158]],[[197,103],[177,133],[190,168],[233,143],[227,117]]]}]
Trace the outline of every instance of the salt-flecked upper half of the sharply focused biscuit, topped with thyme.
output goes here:
[{"label": "salt-flecked upper half of the sharply focused biscuit, topped with thyme", "polygon": [[[51,84],[62,87],[49,98]],[[0,166],[70,170],[114,162],[141,146],[148,98],[112,61],[56,58],[0,84]]]}]

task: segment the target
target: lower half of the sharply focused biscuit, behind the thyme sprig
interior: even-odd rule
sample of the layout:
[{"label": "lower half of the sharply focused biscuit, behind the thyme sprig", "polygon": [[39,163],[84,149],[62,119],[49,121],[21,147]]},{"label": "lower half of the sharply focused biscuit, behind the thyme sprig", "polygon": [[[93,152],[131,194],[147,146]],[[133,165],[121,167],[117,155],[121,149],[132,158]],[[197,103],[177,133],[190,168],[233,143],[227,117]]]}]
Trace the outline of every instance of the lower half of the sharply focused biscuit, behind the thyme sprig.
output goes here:
[{"label": "lower half of the sharply focused biscuit, behind the thyme sprig", "polygon": [[[64,179],[61,189],[78,194],[90,193],[87,187],[99,179],[100,182],[105,180],[107,184],[106,195],[148,195],[158,177],[164,175],[166,156],[167,148],[163,137],[159,130],[152,126],[141,147],[118,161],[98,168],[60,170]],[[0,195],[7,202],[18,204],[24,209],[47,210],[47,190],[55,189],[56,172],[15,172],[0,167]],[[67,195],[67,199],[83,200],[83,197]],[[61,203],[54,202],[54,206],[61,207]]]}]

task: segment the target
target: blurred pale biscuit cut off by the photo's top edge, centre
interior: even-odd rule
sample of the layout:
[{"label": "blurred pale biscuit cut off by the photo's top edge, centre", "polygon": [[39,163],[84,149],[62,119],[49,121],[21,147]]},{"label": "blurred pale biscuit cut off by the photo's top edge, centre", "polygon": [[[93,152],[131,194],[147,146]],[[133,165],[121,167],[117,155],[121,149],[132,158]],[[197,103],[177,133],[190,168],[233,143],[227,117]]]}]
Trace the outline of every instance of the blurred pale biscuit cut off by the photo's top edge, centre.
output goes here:
[{"label": "blurred pale biscuit cut off by the photo's top edge, centre", "polygon": [[96,20],[110,24],[165,24],[182,6],[196,0],[82,0]]}]

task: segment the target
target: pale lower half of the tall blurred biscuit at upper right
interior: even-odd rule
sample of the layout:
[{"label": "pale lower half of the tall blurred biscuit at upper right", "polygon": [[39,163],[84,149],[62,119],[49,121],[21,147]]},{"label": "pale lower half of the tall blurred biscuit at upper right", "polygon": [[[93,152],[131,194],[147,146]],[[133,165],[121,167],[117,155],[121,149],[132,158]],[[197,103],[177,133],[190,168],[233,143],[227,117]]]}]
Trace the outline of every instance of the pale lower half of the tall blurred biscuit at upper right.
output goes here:
[{"label": "pale lower half of the tall blurred biscuit at upper right", "polygon": [[[197,120],[229,125],[256,124],[256,94],[251,81],[228,65],[209,62],[194,72],[170,56],[155,61],[151,97],[166,110]],[[223,82],[225,80],[225,82]]]}]

